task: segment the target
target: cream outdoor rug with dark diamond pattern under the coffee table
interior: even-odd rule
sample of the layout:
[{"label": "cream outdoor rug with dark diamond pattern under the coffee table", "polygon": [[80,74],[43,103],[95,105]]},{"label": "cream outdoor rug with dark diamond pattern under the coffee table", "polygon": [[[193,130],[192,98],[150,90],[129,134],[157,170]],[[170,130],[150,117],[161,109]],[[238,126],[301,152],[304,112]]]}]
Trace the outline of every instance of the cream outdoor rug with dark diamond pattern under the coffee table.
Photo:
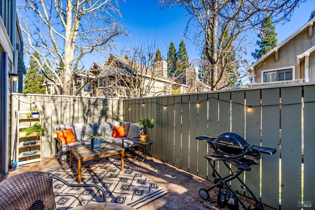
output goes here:
[{"label": "cream outdoor rug with dark diamond pattern under the coffee table", "polygon": [[[106,202],[124,204],[139,208],[167,193],[162,187],[136,172],[126,164],[120,170],[120,158],[111,156],[82,163],[81,183],[94,183],[106,191]],[[77,184],[77,162],[70,169],[68,164],[46,168],[46,172],[57,175],[69,183]],[[77,206],[103,201],[97,188],[68,187],[55,180],[53,183],[56,206],[70,209]],[[96,192],[96,193],[95,193]]]}]

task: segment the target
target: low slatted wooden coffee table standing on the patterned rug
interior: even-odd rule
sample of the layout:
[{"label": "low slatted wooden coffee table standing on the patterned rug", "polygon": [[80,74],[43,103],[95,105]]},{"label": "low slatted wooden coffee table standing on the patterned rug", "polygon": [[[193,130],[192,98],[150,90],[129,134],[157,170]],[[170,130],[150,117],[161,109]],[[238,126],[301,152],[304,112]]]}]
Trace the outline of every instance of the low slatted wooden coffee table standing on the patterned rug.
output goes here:
[{"label": "low slatted wooden coffee table standing on the patterned rug", "polygon": [[73,156],[78,160],[78,183],[81,182],[81,166],[83,161],[108,157],[116,154],[121,155],[121,171],[124,170],[125,149],[110,142],[101,143],[100,148],[92,149],[91,145],[75,146],[70,148],[70,168],[72,168]]}]

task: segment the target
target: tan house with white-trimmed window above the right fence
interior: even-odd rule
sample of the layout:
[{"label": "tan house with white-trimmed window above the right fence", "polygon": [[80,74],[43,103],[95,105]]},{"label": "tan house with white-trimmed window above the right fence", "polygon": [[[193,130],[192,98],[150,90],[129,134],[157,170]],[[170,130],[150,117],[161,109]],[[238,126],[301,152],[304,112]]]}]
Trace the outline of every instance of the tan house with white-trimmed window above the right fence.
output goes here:
[{"label": "tan house with white-trimmed window above the right fence", "polygon": [[315,18],[247,68],[252,86],[315,81]]}]

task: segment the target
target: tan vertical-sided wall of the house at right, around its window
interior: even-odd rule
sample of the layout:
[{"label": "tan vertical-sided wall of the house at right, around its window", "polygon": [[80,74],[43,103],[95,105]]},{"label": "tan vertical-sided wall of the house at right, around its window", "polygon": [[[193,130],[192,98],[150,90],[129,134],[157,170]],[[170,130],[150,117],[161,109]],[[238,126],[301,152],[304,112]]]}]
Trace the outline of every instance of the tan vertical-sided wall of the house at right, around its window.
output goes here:
[{"label": "tan vertical-sided wall of the house at right, around its window", "polygon": [[[258,63],[255,67],[255,83],[262,83],[263,76],[261,71],[268,69],[277,69],[282,67],[295,66],[295,79],[304,79],[301,77],[301,65],[297,63],[297,55],[310,49],[315,45],[315,26],[313,26],[313,36],[309,39],[309,28],[301,31],[294,38],[289,40],[284,46],[278,49],[278,62],[275,60],[275,53],[271,54],[269,57]],[[315,63],[313,58],[312,62]],[[311,61],[310,61],[311,63]],[[313,68],[314,69],[314,68]],[[311,74],[311,71],[310,71]],[[315,73],[313,73],[315,74]],[[315,81],[315,78],[310,77],[310,81]]]}]

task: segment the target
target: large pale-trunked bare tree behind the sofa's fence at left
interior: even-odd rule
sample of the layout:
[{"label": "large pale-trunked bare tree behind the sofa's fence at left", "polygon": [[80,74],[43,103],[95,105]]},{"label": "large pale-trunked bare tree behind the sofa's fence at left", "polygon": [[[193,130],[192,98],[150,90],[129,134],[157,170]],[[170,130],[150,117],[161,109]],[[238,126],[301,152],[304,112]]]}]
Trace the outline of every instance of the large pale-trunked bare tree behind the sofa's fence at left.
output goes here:
[{"label": "large pale-trunked bare tree behind the sofa's fence at left", "polygon": [[[126,35],[116,20],[121,17],[118,0],[24,0],[19,8],[25,51],[54,83],[57,94],[75,94],[72,79],[82,58],[112,48],[115,37]],[[55,79],[47,76],[51,74]]]}]

